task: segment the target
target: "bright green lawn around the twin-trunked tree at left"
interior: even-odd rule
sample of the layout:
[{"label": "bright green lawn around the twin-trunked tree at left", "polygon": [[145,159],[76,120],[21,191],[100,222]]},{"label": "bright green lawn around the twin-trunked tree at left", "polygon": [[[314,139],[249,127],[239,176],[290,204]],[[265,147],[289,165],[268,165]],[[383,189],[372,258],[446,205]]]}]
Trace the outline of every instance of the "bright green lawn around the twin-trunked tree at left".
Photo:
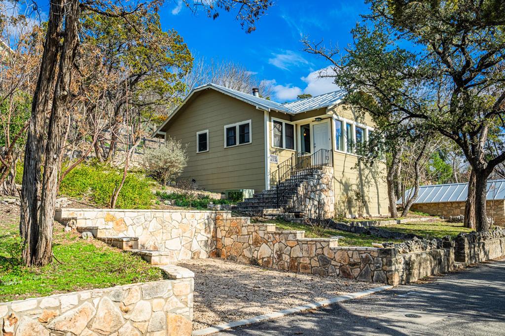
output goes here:
[{"label": "bright green lawn around the twin-trunked tree at left", "polygon": [[9,212],[0,216],[0,302],[163,278],[161,269],[140,257],[98,241],[84,241],[75,232],[64,233],[57,223],[53,253],[58,261],[25,267],[20,258],[19,214]]}]

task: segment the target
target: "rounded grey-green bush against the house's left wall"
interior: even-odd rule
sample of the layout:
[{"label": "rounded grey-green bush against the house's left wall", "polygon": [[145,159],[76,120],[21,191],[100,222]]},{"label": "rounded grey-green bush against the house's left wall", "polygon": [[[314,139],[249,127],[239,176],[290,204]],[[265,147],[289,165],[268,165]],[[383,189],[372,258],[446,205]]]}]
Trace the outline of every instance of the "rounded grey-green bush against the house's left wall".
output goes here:
[{"label": "rounded grey-green bush against the house's left wall", "polygon": [[145,150],[143,167],[148,174],[166,186],[181,175],[186,167],[188,162],[186,147],[183,147],[180,141],[168,138],[165,145]]}]

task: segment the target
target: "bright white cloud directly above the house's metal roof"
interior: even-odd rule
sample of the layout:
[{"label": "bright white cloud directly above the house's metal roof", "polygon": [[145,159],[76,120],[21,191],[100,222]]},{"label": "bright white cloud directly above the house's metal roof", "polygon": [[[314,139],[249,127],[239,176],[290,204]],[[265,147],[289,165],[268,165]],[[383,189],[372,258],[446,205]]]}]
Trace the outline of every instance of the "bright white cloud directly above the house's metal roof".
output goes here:
[{"label": "bright white cloud directly above the house's metal roof", "polygon": [[298,86],[292,86],[292,84],[278,84],[275,79],[264,80],[262,84],[271,87],[272,92],[275,95],[274,100],[279,102],[291,101],[295,100],[296,96],[302,93],[310,93],[313,96],[318,96],[320,94],[338,90],[339,87],[333,83],[334,79],[332,77],[324,77],[334,73],[333,68],[329,66],[313,71],[306,77],[301,77],[300,79],[307,83],[307,86],[304,89]]}]

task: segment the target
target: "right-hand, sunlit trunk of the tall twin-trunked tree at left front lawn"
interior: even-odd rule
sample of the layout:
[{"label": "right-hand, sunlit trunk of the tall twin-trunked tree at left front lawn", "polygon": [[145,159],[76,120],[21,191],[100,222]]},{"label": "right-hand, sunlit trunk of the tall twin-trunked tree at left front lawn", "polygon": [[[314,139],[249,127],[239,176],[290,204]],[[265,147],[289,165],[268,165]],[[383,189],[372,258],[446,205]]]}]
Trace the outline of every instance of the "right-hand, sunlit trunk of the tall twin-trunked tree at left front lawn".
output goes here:
[{"label": "right-hand, sunlit trunk of the tall twin-trunked tree at left front lawn", "polygon": [[55,201],[58,193],[60,157],[65,141],[65,111],[70,94],[72,66],[78,46],[79,1],[68,0],[65,4],[65,34],[60,57],[58,79],[53,98],[53,108],[47,133],[47,145],[44,157],[44,175],[42,179],[42,198],[39,211],[39,240],[34,251],[32,264],[43,266],[53,259],[53,221]]}]

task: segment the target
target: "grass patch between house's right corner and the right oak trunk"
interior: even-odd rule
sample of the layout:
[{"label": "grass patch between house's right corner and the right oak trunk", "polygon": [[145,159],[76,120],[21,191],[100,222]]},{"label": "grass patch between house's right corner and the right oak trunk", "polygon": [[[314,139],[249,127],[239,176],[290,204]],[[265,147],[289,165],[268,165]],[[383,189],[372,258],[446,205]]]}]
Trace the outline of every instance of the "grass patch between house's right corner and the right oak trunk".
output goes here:
[{"label": "grass patch between house's right corner and the right oak trunk", "polygon": [[471,232],[472,229],[463,227],[463,223],[449,223],[446,221],[421,221],[388,225],[384,228],[389,231],[415,234],[429,239],[442,238],[443,236],[456,237],[460,232]]}]

